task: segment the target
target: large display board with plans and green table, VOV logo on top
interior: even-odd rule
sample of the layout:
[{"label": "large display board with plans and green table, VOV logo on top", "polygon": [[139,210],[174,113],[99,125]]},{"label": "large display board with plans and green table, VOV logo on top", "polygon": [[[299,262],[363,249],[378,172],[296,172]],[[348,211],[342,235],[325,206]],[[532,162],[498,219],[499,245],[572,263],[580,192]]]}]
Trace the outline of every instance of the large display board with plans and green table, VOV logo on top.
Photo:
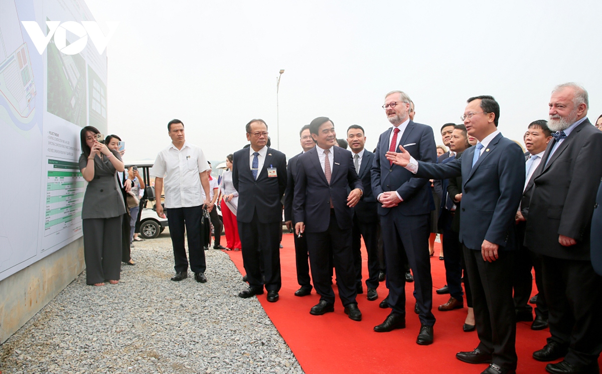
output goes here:
[{"label": "large display board with plans and green table, VOV logo on top", "polygon": [[107,133],[107,55],[74,26],[93,20],[83,0],[0,0],[0,280],[82,235],[79,132]]}]

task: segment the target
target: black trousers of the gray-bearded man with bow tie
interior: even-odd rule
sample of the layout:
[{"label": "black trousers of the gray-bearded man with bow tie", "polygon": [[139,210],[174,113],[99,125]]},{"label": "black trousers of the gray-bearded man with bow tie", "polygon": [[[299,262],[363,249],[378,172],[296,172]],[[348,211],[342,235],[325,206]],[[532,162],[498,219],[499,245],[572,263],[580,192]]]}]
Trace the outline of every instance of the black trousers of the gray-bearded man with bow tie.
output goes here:
[{"label": "black trousers of the gray-bearded man with bow tie", "polygon": [[589,260],[542,257],[550,313],[548,343],[568,346],[564,359],[573,365],[597,361],[602,351],[602,277]]}]

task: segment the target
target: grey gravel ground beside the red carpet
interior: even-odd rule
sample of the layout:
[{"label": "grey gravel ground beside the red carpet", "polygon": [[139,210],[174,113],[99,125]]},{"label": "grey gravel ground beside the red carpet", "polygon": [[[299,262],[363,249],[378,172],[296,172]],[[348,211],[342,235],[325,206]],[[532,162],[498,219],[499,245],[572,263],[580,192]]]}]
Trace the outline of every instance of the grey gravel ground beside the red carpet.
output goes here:
[{"label": "grey gravel ground beside the red carpet", "polygon": [[119,284],[80,274],[0,346],[1,373],[303,373],[259,301],[237,297],[229,256],[205,254],[208,283],[170,281],[166,230],[135,243]]}]

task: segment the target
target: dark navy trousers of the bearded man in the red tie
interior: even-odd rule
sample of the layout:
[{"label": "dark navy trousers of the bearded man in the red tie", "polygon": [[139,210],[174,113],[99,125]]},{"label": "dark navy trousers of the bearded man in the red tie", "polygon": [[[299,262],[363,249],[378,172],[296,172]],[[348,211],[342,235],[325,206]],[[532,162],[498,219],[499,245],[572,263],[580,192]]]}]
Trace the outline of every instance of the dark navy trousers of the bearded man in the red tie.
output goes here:
[{"label": "dark navy trousers of the bearded man in the red tie", "polygon": [[405,315],[406,256],[414,272],[414,296],[420,309],[420,322],[435,324],[433,306],[433,279],[430,275],[429,236],[430,213],[403,216],[389,212],[380,216],[385,244],[386,277],[389,288],[389,306],[394,313]]}]

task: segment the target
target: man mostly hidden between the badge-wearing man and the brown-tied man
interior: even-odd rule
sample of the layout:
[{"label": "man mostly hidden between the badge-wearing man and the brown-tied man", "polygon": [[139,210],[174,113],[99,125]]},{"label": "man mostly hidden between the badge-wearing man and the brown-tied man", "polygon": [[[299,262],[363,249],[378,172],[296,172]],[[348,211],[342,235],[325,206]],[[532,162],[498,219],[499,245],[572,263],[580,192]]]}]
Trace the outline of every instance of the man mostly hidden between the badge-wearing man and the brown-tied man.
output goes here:
[{"label": "man mostly hidden between the badge-wearing man and the brown-tied man", "polygon": [[[287,190],[284,192],[284,223],[289,231],[293,231],[295,224],[293,217],[293,197],[295,192],[295,176],[297,174],[297,159],[303,153],[315,147],[314,138],[309,133],[309,124],[301,127],[299,132],[300,143],[303,152],[293,156],[288,160],[287,165]],[[311,293],[311,279],[309,278],[309,256],[307,252],[307,242],[305,236],[294,236],[295,241],[295,264],[297,268],[297,283],[300,289],[295,291],[295,296],[307,296]]]}]

